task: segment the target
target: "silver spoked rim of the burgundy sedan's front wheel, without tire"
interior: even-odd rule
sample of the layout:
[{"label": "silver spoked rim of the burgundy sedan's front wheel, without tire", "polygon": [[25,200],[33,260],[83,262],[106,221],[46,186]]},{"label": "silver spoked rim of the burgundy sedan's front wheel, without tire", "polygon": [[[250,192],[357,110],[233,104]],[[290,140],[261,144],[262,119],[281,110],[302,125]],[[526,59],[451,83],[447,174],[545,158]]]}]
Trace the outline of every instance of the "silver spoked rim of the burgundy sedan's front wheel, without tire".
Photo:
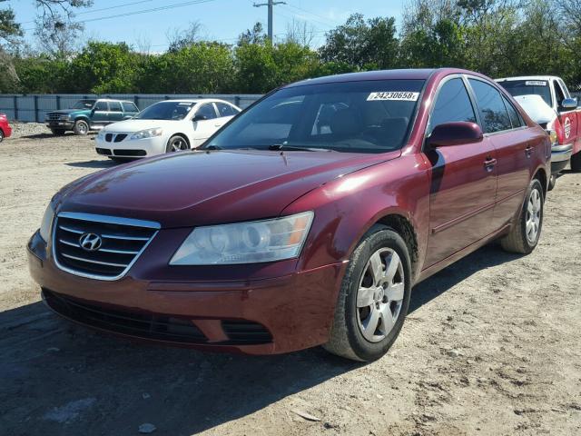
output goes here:
[{"label": "silver spoked rim of the burgundy sedan's front wheel, without tire", "polygon": [[380,342],[398,320],[405,292],[404,269],[398,253],[381,248],[366,264],[357,292],[359,331],[369,342]]}]

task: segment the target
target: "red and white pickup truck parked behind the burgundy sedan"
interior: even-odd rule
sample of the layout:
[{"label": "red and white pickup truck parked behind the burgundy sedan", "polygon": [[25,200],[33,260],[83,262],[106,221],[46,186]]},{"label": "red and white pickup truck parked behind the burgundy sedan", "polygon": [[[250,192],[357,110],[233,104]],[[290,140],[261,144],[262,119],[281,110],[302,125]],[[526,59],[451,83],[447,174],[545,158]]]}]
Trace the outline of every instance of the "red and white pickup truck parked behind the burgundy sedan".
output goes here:
[{"label": "red and white pickup truck parked behind the burgundy sedan", "polygon": [[[571,169],[581,172],[581,113],[576,98],[571,94],[560,77],[552,75],[527,75],[497,79],[535,122],[540,124],[551,135],[553,153],[551,156],[551,180],[549,188],[556,183],[556,175],[571,164]],[[547,120],[547,111],[537,99],[527,95],[538,95],[552,109],[552,116]],[[535,119],[543,114],[540,119]]]}]

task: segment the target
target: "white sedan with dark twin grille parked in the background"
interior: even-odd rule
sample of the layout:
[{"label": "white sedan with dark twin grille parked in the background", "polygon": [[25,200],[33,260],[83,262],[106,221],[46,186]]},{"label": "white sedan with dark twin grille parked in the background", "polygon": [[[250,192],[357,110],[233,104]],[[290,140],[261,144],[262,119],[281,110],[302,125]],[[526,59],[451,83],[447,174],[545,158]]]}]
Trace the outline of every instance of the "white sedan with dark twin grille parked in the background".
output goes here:
[{"label": "white sedan with dark twin grille parked in the background", "polygon": [[98,154],[128,159],[190,150],[201,145],[241,109],[215,99],[167,100],[97,135]]}]

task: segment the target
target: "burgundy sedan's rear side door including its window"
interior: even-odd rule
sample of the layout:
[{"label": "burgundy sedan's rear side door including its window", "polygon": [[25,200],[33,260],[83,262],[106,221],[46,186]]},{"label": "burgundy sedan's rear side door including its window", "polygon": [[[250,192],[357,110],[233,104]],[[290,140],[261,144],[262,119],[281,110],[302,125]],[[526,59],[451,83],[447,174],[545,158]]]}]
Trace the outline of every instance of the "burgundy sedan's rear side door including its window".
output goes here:
[{"label": "burgundy sedan's rear side door including its window", "polygon": [[515,106],[495,86],[469,78],[478,102],[483,131],[497,151],[497,204],[494,225],[510,222],[520,208],[530,180],[531,156],[537,139],[527,129]]}]

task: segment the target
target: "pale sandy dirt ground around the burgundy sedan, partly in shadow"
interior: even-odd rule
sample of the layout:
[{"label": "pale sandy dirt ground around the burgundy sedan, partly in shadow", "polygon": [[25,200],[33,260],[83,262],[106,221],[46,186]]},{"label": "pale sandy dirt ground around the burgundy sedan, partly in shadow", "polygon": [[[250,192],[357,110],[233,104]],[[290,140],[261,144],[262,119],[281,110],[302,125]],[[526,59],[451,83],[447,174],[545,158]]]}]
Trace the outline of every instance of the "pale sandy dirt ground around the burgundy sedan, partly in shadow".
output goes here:
[{"label": "pale sandy dirt ground around the burgundy sedan, partly in shadow", "polygon": [[581,434],[581,174],[549,194],[534,253],[492,244],[420,283],[379,362],[251,358],[127,342],[48,312],[27,238],[58,188],[114,163],[91,136],[17,130],[0,144],[0,434]]}]

